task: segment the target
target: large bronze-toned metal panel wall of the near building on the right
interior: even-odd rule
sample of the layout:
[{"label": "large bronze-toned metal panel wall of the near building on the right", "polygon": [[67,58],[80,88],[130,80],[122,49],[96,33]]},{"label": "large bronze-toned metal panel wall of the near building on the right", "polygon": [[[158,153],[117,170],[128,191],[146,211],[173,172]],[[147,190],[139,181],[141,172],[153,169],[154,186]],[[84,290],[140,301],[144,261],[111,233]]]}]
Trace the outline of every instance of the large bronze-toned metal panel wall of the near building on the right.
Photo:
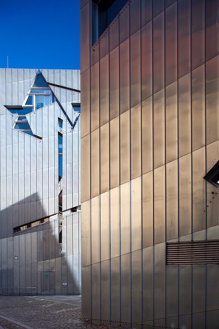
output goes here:
[{"label": "large bronze-toned metal panel wall of the near building on the right", "polygon": [[[91,42],[81,0],[82,317],[217,328],[219,265],[166,241],[219,239],[218,1],[128,1]],[[214,194],[212,194],[214,192]],[[216,194],[217,193],[217,194]]]}]

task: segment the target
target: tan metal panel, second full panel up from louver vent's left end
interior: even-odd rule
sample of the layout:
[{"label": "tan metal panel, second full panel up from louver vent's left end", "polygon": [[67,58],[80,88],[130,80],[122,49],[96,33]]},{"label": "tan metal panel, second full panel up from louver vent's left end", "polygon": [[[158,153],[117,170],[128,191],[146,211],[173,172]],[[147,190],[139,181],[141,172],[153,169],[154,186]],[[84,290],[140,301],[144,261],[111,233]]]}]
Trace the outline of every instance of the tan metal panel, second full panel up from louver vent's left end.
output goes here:
[{"label": "tan metal panel, second full panel up from louver vent's left end", "polygon": [[178,157],[177,82],[165,88],[165,152],[166,163]]}]

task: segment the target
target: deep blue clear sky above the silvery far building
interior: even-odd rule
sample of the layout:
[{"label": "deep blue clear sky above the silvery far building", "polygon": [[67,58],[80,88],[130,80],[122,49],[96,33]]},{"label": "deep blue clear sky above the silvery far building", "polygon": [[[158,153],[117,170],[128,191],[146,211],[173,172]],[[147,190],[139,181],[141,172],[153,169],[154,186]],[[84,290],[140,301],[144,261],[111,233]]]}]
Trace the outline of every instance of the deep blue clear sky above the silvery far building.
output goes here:
[{"label": "deep blue clear sky above the silvery far building", "polygon": [[0,6],[0,67],[80,69],[80,0]]}]

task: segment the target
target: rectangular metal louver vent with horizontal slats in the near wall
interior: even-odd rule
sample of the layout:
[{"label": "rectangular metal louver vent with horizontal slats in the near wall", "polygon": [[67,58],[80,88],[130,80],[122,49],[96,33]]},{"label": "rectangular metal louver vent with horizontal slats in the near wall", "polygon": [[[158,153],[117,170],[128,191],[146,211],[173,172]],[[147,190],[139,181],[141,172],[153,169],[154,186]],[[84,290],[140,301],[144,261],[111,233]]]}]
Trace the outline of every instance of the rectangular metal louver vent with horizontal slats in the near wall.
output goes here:
[{"label": "rectangular metal louver vent with horizontal slats in the near wall", "polygon": [[219,264],[219,240],[166,243],[166,265]]}]

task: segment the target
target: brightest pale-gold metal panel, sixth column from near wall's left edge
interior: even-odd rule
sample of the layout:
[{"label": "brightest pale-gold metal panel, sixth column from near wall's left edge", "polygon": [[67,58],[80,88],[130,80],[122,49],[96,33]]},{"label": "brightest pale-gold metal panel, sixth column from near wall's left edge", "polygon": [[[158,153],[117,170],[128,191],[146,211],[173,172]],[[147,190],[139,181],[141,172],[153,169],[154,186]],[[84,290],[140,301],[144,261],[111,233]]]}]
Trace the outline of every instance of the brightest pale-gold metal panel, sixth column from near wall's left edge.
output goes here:
[{"label": "brightest pale-gold metal panel, sixth column from near wall's left edge", "polygon": [[131,180],[131,251],[141,249],[141,177]]}]

